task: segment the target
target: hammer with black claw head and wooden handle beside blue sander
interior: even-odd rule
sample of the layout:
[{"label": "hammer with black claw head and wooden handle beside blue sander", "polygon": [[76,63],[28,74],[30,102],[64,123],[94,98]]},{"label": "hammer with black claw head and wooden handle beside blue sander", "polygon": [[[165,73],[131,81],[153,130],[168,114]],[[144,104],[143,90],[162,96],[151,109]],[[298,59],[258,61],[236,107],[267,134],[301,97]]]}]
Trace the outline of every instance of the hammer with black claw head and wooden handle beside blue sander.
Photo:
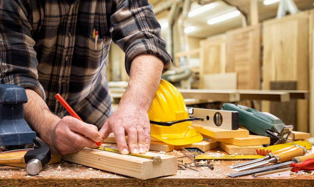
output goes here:
[{"label": "hammer with black claw head and wooden handle beside blue sander", "polygon": [[30,175],[37,175],[43,165],[51,160],[50,148],[42,141],[33,139],[34,149],[17,150],[8,153],[0,153],[0,164],[26,163],[26,171]]}]

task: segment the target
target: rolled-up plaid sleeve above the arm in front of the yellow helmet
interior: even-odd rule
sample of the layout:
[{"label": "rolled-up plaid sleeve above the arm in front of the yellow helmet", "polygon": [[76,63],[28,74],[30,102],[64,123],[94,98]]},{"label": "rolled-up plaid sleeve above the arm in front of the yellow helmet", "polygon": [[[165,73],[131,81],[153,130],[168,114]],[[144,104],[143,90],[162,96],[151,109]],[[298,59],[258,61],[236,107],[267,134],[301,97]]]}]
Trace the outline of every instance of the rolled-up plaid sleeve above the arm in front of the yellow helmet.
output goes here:
[{"label": "rolled-up plaid sleeve above the arm in front of the yellow helmet", "polygon": [[140,54],[153,54],[164,62],[163,73],[171,67],[172,59],[165,49],[160,24],[153,6],[147,0],[117,1],[110,18],[111,37],[125,52],[125,69],[129,75],[132,60]]}]

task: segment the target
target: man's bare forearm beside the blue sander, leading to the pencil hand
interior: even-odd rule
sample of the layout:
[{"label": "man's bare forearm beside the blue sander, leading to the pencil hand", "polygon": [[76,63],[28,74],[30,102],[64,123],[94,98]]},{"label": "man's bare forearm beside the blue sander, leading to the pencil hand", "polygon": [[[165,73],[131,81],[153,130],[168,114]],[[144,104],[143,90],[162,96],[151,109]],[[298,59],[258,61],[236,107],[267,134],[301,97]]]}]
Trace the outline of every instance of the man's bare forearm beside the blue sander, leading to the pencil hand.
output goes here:
[{"label": "man's bare forearm beside the blue sander, leading to the pencil hand", "polygon": [[54,115],[45,101],[35,91],[26,89],[28,102],[24,106],[24,117],[36,135],[52,145],[51,132],[61,120]]}]

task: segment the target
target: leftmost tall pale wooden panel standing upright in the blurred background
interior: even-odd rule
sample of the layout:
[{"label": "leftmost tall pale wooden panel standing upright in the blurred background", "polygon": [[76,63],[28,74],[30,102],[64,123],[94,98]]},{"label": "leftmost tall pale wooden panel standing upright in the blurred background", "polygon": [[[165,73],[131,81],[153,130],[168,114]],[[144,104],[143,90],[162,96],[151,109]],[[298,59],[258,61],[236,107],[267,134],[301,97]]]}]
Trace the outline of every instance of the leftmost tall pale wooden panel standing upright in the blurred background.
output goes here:
[{"label": "leftmost tall pale wooden panel standing upright in the blurred background", "polygon": [[226,35],[203,39],[200,41],[200,88],[203,88],[205,74],[226,72]]}]

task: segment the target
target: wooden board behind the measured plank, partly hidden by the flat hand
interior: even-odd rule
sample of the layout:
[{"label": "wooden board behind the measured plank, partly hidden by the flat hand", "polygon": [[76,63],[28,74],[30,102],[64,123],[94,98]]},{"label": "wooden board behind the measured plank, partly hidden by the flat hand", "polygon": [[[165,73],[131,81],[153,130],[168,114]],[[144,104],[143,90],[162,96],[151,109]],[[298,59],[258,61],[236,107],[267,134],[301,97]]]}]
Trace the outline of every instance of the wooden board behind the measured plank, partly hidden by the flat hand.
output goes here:
[{"label": "wooden board behind the measured plank, partly hidden by the flat hand", "polygon": [[[126,138],[126,141],[127,141],[128,140],[127,136],[125,138]],[[154,138],[151,137],[151,140],[153,140],[153,139]],[[174,145],[168,145],[166,143],[157,142],[157,141],[150,141],[149,150],[151,150],[151,151],[170,152],[170,151],[173,151],[175,149]],[[106,138],[104,140],[104,143],[116,143],[116,139],[115,139],[115,136],[113,135],[113,133],[109,134],[108,138]]]}]

